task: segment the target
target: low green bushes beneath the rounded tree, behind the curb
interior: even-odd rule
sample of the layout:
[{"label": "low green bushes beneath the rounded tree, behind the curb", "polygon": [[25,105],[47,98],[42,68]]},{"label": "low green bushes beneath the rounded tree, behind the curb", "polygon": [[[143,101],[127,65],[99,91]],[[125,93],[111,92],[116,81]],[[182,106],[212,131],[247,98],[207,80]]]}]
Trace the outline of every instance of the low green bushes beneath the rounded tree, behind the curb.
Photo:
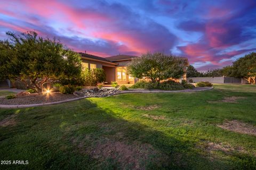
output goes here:
[{"label": "low green bushes beneath the rounded tree, behind the curb", "polygon": [[183,90],[184,87],[182,84],[177,83],[172,80],[159,82],[151,82],[151,81],[138,81],[137,83],[133,84],[130,88],[132,89],[159,89],[159,90]]}]

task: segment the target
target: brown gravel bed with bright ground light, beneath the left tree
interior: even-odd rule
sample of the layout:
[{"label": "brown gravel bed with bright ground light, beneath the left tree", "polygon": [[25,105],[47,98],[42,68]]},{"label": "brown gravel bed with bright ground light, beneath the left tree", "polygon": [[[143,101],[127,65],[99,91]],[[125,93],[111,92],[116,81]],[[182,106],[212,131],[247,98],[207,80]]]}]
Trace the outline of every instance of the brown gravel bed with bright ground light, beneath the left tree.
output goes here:
[{"label": "brown gravel bed with bright ground light, beneath the left tree", "polygon": [[52,92],[50,95],[29,95],[20,96],[14,99],[0,98],[0,105],[30,105],[41,103],[52,103],[55,101],[63,101],[78,98],[75,95],[64,95],[59,92]]}]

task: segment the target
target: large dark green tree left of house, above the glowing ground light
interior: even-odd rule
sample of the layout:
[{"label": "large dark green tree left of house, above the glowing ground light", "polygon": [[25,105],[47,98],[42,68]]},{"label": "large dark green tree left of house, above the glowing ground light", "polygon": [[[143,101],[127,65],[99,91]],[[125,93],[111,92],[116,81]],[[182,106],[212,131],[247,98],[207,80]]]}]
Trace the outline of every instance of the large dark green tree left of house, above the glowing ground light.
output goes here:
[{"label": "large dark green tree left of house, above the glowing ground light", "polygon": [[64,49],[55,38],[38,37],[36,32],[6,35],[9,39],[0,42],[1,78],[22,81],[40,92],[45,82],[81,73],[79,55]]}]

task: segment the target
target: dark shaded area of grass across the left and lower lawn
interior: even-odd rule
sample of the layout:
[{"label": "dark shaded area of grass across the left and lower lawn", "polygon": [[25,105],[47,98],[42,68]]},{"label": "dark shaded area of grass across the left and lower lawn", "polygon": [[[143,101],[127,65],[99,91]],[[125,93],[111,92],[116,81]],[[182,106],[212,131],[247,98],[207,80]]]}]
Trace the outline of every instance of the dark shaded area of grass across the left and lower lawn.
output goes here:
[{"label": "dark shaded area of grass across the left and lower lawn", "polygon": [[[17,109],[0,109],[14,114]],[[14,126],[0,128],[1,160],[29,160],[7,169],[252,168],[255,158],[210,159],[195,143],[130,122],[89,99],[20,109]],[[245,161],[243,161],[245,160]],[[240,162],[239,162],[240,161]]]}]

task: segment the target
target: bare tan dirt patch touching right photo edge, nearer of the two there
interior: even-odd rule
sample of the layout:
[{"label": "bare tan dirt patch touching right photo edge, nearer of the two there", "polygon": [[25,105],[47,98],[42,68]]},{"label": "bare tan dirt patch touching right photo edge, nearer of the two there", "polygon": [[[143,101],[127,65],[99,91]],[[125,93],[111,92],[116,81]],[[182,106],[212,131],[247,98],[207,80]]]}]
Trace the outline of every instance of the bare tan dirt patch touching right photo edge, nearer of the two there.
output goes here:
[{"label": "bare tan dirt patch touching right photo edge, nearer of the two there", "polygon": [[256,135],[256,127],[237,120],[226,121],[223,124],[217,125],[219,128],[234,131],[243,134]]}]

